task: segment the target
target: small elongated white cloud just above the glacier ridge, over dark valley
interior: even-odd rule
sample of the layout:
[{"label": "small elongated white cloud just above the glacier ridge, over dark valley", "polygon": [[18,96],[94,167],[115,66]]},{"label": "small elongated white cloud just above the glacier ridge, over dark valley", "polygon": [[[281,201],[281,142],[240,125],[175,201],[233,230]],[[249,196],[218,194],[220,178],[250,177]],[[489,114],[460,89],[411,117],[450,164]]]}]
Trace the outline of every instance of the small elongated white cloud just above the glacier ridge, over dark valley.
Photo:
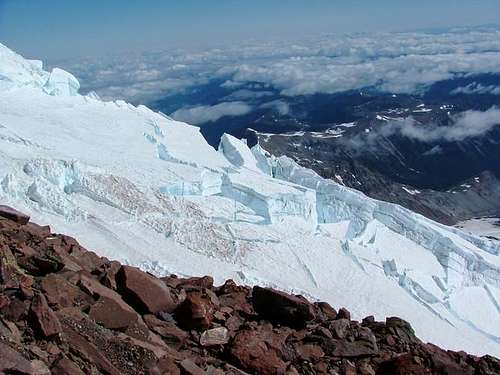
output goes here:
[{"label": "small elongated white cloud just above the glacier ridge, over dark valley", "polygon": [[252,107],[243,102],[224,102],[214,106],[181,108],[170,116],[178,121],[199,125],[214,122],[225,116],[242,116],[252,111]]}]

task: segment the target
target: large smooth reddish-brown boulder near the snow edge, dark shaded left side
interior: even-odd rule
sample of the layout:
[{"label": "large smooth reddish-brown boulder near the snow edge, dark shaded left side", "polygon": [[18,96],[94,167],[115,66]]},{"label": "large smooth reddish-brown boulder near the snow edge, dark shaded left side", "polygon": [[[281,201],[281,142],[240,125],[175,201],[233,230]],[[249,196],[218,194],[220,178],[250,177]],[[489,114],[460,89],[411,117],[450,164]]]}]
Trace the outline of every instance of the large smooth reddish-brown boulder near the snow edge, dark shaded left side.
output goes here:
[{"label": "large smooth reddish-brown boulder near the snow edge, dark shaded left side", "polygon": [[138,268],[122,266],[116,274],[116,283],[123,299],[140,313],[170,313],[176,308],[170,289]]}]

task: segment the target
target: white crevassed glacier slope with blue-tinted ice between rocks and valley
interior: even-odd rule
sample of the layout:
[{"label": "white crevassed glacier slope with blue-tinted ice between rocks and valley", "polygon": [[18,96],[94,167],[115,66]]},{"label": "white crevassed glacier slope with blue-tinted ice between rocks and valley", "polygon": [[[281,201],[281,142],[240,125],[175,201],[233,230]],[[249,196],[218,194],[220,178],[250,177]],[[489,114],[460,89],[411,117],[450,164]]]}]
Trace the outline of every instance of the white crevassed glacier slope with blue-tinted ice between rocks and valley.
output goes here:
[{"label": "white crevassed glacier slope with blue-tinted ice between rocks and valley", "polygon": [[157,274],[279,287],[500,356],[500,246],[146,107],[77,94],[0,44],[0,202]]}]

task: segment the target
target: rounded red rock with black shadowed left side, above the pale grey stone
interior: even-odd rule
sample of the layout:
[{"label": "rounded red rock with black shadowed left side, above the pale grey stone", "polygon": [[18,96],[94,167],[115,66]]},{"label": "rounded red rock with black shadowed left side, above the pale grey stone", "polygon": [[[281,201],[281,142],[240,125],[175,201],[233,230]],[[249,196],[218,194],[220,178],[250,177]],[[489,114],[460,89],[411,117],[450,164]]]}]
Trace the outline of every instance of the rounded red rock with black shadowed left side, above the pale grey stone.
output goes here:
[{"label": "rounded red rock with black shadowed left side, above the pale grey stone", "polygon": [[212,323],[213,306],[201,293],[188,293],[186,299],[175,310],[175,317],[185,329],[207,329]]}]

